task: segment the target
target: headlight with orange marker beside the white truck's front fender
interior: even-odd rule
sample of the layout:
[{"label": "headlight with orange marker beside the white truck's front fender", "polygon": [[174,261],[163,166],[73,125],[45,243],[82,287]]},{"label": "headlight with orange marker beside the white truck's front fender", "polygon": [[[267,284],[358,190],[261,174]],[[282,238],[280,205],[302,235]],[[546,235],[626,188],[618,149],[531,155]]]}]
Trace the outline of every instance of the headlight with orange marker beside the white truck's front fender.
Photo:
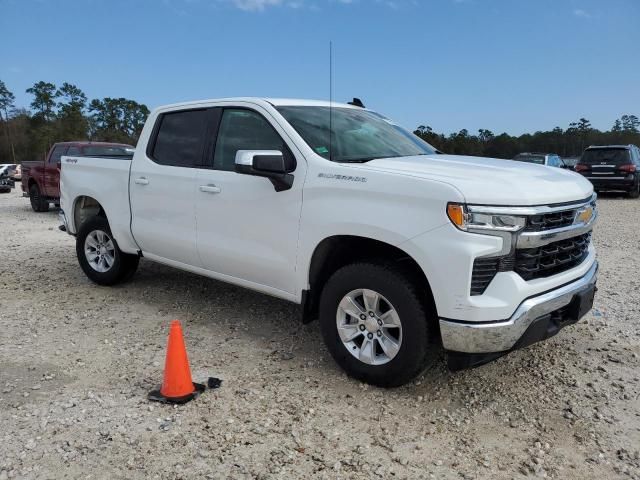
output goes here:
[{"label": "headlight with orange marker beside the white truck's front fender", "polygon": [[460,203],[449,203],[447,205],[447,216],[460,230],[475,232],[484,230],[491,232],[517,232],[526,225],[525,217],[515,215],[505,215],[500,213],[488,213],[487,207],[482,207],[482,212],[474,211],[473,205],[463,205]]}]

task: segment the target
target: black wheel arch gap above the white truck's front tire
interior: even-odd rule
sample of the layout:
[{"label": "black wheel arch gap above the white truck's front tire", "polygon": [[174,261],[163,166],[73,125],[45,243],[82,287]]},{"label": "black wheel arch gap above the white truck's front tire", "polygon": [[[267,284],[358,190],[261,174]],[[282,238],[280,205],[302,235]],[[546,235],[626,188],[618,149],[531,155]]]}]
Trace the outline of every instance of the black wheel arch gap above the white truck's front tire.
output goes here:
[{"label": "black wheel arch gap above the white truck's front tire", "polygon": [[403,249],[390,243],[357,235],[334,235],[323,239],[313,251],[308,270],[308,287],[303,292],[303,321],[308,323],[318,316],[322,289],[329,277],[339,268],[359,261],[380,261],[395,264],[416,282],[423,293],[425,309],[433,313],[434,328],[438,329],[437,312],[431,285],[418,262]]}]

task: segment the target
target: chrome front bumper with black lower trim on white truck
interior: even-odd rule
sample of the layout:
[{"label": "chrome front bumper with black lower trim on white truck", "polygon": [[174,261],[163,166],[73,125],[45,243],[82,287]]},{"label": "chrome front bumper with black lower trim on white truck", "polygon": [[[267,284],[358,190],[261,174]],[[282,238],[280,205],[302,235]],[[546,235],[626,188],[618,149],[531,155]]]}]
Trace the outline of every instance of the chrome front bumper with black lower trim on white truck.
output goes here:
[{"label": "chrome front bumper with black lower trim on white truck", "polygon": [[440,319],[442,344],[453,370],[486,363],[555,335],[589,311],[597,281],[594,262],[581,278],[523,301],[507,320]]}]

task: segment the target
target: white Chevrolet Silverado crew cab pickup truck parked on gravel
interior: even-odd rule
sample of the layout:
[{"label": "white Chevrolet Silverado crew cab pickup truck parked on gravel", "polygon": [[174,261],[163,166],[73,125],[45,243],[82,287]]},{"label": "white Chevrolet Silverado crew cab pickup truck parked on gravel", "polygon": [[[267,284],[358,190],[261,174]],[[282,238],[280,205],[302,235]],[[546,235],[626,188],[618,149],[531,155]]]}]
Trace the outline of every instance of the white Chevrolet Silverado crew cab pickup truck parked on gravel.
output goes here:
[{"label": "white Chevrolet Silverado crew cab pickup truck parked on gravel", "polygon": [[302,304],[350,375],[410,381],[544,340],[593,304],[589,181],[444,155],[351,104],[156,109],[132,160],[63,157],[61,229],[86,275],[140,258]]}]

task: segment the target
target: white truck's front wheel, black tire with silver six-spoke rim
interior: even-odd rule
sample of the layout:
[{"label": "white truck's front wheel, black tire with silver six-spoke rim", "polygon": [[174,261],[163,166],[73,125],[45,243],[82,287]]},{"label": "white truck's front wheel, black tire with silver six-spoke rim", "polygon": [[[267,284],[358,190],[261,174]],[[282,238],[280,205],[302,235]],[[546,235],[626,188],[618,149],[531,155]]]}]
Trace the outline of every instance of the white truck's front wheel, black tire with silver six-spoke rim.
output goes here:
[{"label": "white truck's front wheel, black tire with silver six-spoke rim", "polygon": [[327,281],[320,328],[329,352],[350,376],[381,387],[415,378],[437,358],[413,282],[376,263],[347,265]]}]

